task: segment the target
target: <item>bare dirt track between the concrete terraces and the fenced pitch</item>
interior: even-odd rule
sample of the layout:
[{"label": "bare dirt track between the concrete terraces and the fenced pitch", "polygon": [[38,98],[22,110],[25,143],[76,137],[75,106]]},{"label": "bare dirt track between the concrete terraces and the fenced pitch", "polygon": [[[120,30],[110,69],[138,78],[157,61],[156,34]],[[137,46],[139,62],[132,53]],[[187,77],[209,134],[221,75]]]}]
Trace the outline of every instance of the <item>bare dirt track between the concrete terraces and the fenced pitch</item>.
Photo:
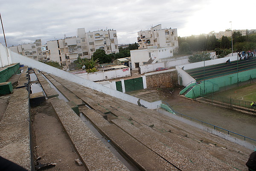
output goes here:
[{"label": "bare dirt track between the concrete terraces and the fenced pitch", "polygon": [[189,117],[202,120],[256,140],[256,117],[178,96],[181,88],[158,89],[160,98]]}]

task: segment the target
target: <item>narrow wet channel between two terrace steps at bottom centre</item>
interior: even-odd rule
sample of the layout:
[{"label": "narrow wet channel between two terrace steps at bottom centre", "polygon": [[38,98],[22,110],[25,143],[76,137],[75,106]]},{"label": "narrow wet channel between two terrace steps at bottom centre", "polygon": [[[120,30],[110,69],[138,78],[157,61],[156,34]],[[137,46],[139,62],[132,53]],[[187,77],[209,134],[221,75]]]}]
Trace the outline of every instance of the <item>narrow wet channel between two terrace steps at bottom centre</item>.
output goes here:
[{"label": "narrow wet channel between two terrace steps at bottom centre", "polygon": [[93,126],[93,124],[80,113],[81,120],[90,128],[91,131],[98,137],[106,147],[130,170],[130,171],[139,171],[139,169],[128,159],[124,158],[119,151],[114,147],[110,140],[107,140],[99,131]]}]

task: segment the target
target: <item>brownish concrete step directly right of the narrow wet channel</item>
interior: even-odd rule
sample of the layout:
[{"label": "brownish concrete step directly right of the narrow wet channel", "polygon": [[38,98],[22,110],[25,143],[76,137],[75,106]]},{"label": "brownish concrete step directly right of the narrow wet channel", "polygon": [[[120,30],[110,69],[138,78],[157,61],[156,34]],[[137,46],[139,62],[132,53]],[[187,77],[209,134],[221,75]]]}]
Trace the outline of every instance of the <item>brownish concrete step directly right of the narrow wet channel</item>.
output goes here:
[{"label": "brownish concrete step directly right of the narrow wet channel", "polygon": [[[172,164],[163,160],[162,157],[125,133],[125,131],[116,125],[106,122],[100,114],[93,110],[84,112],[84,114],[141,170],[177,170]],[[105,124],[102,125],[102,123]]]}]

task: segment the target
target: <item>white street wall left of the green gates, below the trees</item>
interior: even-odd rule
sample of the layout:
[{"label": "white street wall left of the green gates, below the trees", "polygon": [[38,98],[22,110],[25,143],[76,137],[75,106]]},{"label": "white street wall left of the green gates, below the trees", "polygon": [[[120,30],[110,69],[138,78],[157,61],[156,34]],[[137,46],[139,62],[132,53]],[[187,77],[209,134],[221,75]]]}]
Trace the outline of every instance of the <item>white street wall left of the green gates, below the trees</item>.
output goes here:
[{"label": "white street wall left of the green gates, below the trees", "polygon": [[113,69],[110,71],[98,71],[98,72],[92,72],[92,73],[81,73],[81,74],[75,74],[81,78],[84,78],[86,80],[90,81],[101,81],[101,80],[111,80],[116,78],[122,78],[122,77],[131,77],[130,68],[128,68],[128,71],[123,71],[123,68],[120,69]]}]

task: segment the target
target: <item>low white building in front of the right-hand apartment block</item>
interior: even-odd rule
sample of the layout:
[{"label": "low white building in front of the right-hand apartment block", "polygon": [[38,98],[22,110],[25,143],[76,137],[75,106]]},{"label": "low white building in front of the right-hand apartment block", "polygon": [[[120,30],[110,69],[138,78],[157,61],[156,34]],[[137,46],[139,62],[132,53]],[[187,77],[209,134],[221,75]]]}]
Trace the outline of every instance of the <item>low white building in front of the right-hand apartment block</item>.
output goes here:
[{"label": "low white building in front of the right-hand apartment block", "polygon": [[139,68],[141,65],[150,63],[160,63],[162,59],[173,57],[172,47],[157,48],[150,46],[146,49],[131,50],[132,69]]}]

